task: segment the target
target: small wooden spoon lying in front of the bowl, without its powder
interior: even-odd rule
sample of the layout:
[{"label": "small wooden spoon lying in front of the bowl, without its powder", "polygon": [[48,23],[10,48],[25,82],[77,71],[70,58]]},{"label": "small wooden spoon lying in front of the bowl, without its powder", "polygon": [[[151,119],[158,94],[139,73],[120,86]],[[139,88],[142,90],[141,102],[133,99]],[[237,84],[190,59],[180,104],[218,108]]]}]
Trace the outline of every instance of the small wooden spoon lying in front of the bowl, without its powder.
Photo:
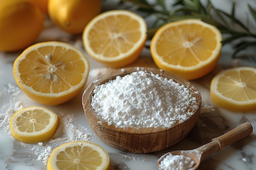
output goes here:
[{"label": "small wooden spoon lying in front of the bowl, without its powder", "polygon": [[184,155],[184,157],[191,158],[195,162],[193,168],[189,170],[197,170],[201,161],[211,155],[213,152],[222,150],[226,146],[229,146],[234,142],[243,139],[244,137],[247,137],[252,132],[252,125],[248,122],[243,123],[240,126],[234,128],[233,130],[230,130],[229,132],[212,139],[211,142],[209,142],[208,144],[205,144],[193,150],[176,150],[173,152],[168,152],[158,159],[157,166],[159,170],[162,170],[159,166],[160,162],[169,154]]}]

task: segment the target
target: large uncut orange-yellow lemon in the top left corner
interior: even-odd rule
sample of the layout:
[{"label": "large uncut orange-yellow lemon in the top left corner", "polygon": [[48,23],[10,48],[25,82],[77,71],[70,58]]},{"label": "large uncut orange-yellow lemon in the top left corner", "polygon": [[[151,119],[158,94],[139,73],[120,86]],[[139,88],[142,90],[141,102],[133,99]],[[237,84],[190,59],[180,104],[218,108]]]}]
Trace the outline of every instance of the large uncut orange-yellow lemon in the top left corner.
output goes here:
[{"label": "large uncut orange-yellow lemon in the top left corner", "polygon": [[33,44],[43,30],[44,17],[27,0],[0,0],[0,51],[18,51]]}]

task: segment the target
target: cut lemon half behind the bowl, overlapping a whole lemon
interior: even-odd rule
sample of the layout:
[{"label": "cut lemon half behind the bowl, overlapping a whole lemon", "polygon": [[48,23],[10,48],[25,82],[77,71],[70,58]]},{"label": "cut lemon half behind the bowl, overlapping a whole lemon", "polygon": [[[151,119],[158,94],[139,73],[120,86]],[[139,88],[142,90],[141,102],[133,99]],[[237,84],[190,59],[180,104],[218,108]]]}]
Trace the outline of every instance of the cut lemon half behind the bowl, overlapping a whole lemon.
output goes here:
[{"label": "cut lemon half behind the bowl, overlapping a whole lemon", "polygon": [[83,45],[89,55],[111,67],[131,64],[139,57],[147,25],[141,16],[127,10],[111,10],[92,19],[83,31]]}]

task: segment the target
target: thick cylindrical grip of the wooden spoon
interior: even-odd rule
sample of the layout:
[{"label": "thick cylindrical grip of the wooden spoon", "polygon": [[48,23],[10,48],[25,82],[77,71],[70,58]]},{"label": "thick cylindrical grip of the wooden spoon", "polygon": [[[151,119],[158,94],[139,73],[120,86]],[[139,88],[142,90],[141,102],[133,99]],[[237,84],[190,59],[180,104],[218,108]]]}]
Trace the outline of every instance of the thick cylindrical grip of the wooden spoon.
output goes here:
[{"label": "thick cylindrical grip of the wooden spoon", "polygon": [[249,122],[246,122],[219,137],[213,138],[212,141],[217,141],[220,146],[219,150],[222,150],[226,146],[229,146],[234,142],[250,135],[252,132],[253,132],[252,124],[250,124]]}]

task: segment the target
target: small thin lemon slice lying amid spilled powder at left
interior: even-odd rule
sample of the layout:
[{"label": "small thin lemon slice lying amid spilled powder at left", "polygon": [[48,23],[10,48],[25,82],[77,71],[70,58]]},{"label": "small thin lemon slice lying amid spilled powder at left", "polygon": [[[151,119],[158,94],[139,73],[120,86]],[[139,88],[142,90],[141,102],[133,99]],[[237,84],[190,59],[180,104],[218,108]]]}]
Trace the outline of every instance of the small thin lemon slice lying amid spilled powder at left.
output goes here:
[{"label": "small thin lemon slice lying amid spilled powder at left", "polygon": [[16,112],[10,119],[11,134],[24,143],[37,143],[50,139],[58,128],[58,117],[52,110],[32,106]]}]

